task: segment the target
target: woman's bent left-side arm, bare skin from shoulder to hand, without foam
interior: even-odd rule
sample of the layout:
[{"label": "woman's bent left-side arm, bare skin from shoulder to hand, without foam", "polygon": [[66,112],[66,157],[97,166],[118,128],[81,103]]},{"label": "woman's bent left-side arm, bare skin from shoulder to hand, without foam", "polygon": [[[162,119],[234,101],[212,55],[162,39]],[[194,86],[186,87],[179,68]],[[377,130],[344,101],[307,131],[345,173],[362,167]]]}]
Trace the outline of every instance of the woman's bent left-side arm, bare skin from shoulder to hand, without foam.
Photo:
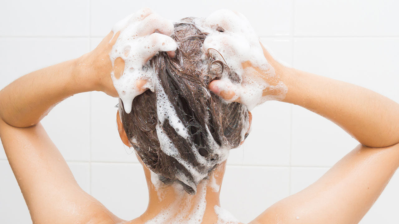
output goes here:
[{"label": "woman's bent left-side arm, bare skin from shoulder to hand, without foam", "polygon": [[[111,38],[112,33],[101,44],[112,47],[113,43],[108,43]],[[107,48],[110,47],[99,49],[107,51]],[[0,91],[0,137],[33,223],[120,221],[79,187],[61,153],[39,123],[63,99],[79,92],[101,90],[99,82],[94,83],[94,79],[89,78],[97,65],[87,63],[88,59],[101,55],[97,49],[79,59],[32,72]],[[103,62],[101,59],[95,61]],[[111,67],[109,57],[108,63]],[[109,73],[108,77],[112,86]]]}]

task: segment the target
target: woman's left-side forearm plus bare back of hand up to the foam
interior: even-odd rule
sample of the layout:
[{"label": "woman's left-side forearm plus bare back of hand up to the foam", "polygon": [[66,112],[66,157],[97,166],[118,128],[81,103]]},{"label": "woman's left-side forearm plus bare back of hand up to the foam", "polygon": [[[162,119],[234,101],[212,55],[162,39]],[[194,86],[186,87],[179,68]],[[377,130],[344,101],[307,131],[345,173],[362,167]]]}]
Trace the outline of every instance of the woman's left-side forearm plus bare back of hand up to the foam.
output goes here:
[{"label": "woman's left-side forearm plus bare back of hand up to the foam", "polygon": [[112,37],[111,32],[82,57],[34,71],[2,89],[0,116],[4,122],[17,128],[34,126],[57,103],[80,92],[98,90],[118,96],[110,75],[108,53],[117,35],[108,43]]}]

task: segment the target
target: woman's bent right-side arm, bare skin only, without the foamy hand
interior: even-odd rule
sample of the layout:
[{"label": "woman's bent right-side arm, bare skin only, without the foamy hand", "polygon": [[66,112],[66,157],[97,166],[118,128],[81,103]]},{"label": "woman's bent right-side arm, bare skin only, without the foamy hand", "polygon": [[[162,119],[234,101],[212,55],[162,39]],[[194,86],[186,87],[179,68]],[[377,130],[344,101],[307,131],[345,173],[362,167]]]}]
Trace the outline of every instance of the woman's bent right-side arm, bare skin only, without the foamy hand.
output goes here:
[{"label": "woman's bent right-side arm, bare skin only, without the foamy hand", "polygon": [[251,223],[358,223],[399,167],[399,104],[354,84],[285,68],[266,51],[265,56],[288,87],[282,101],[332,120],[361,144]]}]

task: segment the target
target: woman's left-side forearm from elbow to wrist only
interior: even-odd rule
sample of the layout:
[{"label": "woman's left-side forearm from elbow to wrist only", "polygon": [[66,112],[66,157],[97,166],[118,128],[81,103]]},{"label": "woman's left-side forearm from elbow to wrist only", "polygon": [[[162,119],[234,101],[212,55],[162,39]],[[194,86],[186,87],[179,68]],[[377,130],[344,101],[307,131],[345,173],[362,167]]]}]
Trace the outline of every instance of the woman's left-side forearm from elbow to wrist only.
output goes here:
[{"label": "woman's left-side forearm from elbow to wrist only", "polygon": [[20,77],[0,91],[0,116],[8,124],[33,126],[55,104],[90,86],[78,69],[79,59],[65,61]]}]

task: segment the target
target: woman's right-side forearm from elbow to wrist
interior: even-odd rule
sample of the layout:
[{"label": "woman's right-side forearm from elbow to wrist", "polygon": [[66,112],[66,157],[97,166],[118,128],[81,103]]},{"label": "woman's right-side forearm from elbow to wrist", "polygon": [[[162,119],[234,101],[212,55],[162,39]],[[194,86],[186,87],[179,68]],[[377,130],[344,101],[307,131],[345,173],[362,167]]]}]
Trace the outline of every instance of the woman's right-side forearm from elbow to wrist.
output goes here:
[{"label": "woman's right-side forearm from elbow to wrist", "polygon": [[354,84],[288,69],[284,102],[328,118],[369,147],[399,142],[399,104]]}]

